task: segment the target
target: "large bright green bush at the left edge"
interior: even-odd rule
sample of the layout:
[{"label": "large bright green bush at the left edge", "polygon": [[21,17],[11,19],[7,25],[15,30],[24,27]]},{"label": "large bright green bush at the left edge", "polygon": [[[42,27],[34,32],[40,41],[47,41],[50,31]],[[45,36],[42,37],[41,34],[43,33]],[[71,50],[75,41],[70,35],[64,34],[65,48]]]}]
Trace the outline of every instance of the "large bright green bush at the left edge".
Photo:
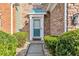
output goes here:
[{"label": "large bright green bush at the left edge", "polygon": [[0,56],[16,55],[17,41],[13,35],[0,31]]}]

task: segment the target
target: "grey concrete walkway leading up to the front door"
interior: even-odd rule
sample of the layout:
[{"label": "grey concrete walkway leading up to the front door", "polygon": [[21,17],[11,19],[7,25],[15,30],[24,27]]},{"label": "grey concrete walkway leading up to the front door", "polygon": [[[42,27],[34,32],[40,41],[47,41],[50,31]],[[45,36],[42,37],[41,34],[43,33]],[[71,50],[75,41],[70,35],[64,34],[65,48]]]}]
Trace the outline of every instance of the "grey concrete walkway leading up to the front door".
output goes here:
[{"label": "grey concrete walkway leading up to the front door", "polygon": [[44,56],[43,44],[31,43],[26,56]]}]

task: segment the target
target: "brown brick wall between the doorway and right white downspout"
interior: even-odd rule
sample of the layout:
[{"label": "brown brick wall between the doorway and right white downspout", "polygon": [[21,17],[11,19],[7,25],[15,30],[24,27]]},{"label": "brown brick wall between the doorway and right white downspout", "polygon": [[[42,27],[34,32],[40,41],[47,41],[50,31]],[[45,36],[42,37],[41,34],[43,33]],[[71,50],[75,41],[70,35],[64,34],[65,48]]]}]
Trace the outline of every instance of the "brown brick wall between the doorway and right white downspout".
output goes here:
[{"label": "brown brick wall between the doorway and right white downspout", "polygon": [[50,34],[59,35],[64,32],[64,4],[58,3],[50,12]]}]

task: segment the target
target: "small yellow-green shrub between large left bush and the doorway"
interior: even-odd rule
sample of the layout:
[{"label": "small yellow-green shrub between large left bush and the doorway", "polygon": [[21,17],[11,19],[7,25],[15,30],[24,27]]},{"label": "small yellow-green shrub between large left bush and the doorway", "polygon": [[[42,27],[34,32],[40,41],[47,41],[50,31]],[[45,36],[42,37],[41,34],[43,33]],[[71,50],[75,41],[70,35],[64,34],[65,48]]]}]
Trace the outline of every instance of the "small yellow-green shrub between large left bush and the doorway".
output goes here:
[{"label": "small yellow-green shrub between large left bush and the doorway", "polygon": [[18,41],[17,47],[22,47],[27,41],[27,32],[17,32],[14,35]]}]

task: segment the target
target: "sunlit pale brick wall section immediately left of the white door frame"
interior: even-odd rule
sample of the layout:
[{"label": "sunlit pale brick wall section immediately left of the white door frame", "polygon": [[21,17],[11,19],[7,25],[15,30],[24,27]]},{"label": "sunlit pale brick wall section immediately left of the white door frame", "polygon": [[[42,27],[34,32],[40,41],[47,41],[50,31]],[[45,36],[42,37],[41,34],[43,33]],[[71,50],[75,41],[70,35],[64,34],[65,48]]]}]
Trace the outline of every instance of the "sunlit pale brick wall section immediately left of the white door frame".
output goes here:
[{"label": "sunlit pale brick wall section immediately left of the white door frame", "polygon": [[28,13],[32,9],[32,4],[29,3],[23,3],[20,4],[21,8],[21,19],[22,19],[22,31],[29,31],[29,18],[28,18]]}]

